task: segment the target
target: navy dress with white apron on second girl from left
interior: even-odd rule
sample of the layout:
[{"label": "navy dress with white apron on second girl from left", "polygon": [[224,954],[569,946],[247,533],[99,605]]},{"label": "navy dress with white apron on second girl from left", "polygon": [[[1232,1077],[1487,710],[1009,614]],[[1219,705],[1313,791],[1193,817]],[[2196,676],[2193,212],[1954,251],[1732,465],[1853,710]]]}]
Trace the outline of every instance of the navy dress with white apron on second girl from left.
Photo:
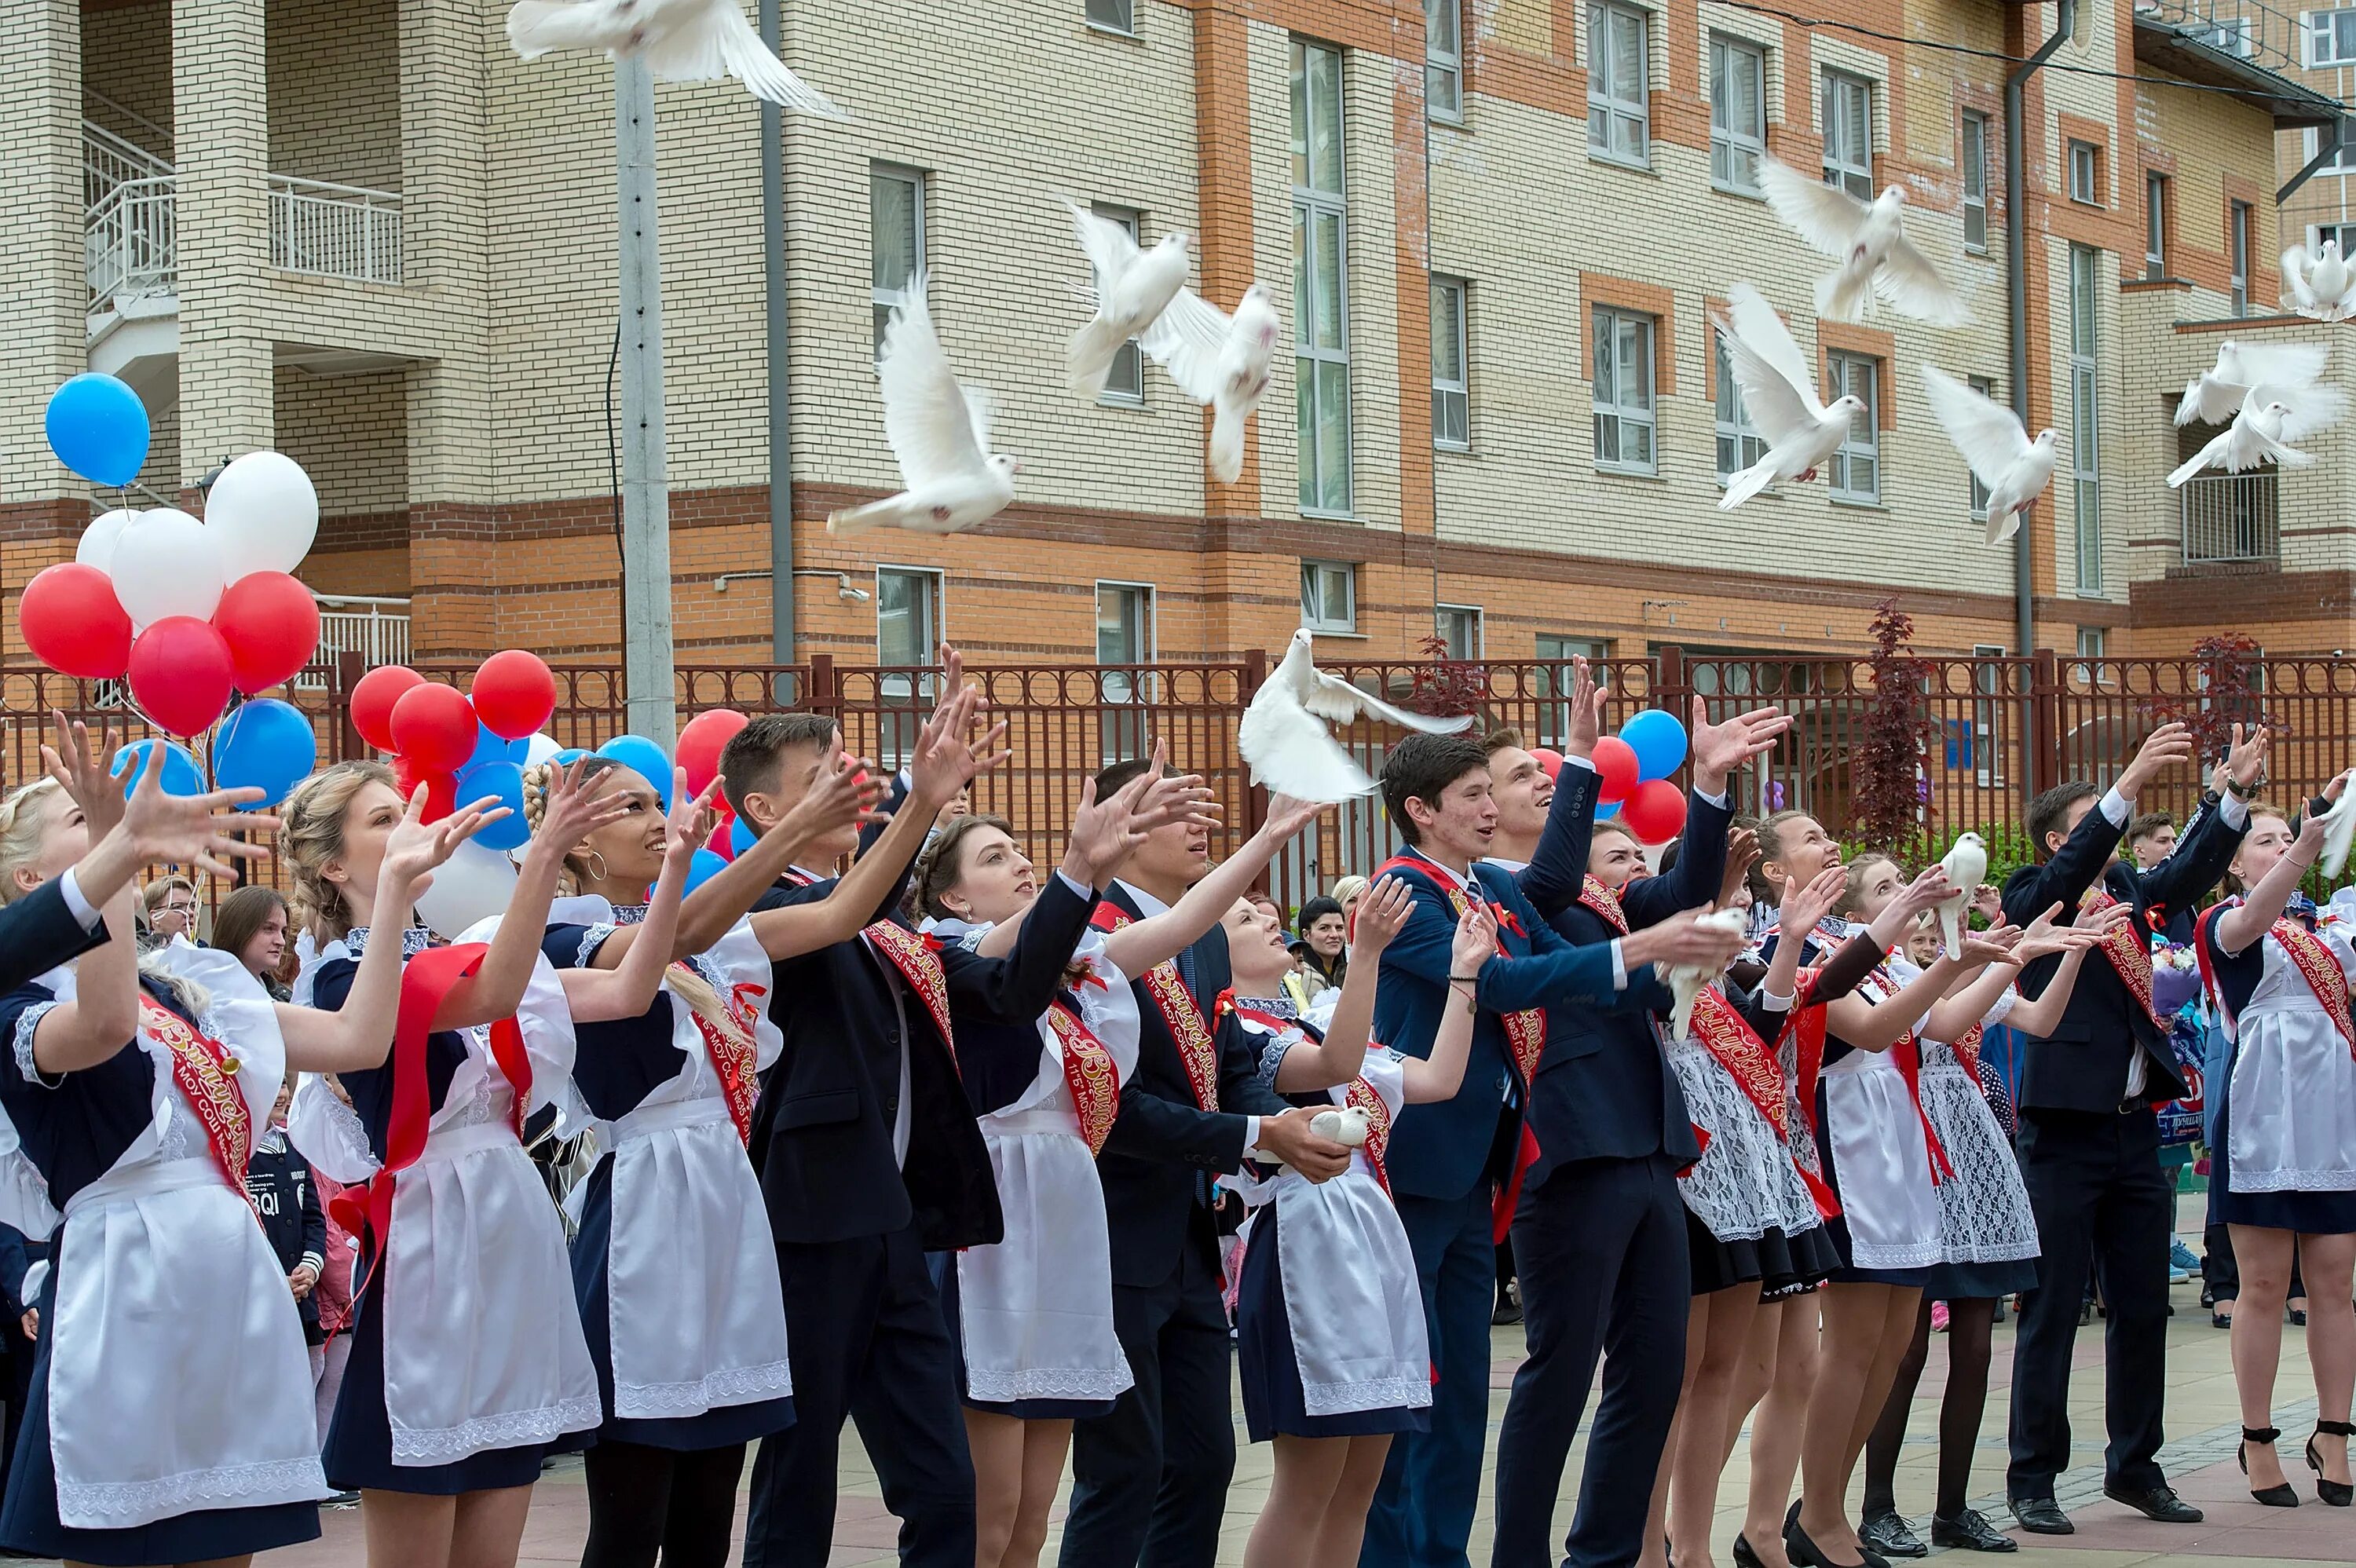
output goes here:
[{"label": "navy dress with white apron on second girl from left", "polygon": [[[370,939],[363,925],[306,954],[294,998],[342,1010]],[[429,944],[422,928],[375,939],[398,939],[403,961]],[[398,1045],[384,1067],[337,1074],[351,1107],[318,1076],[294,1090],[287,1132],[313,1168],[344,1184],[393,1182],[327,1424],[337,1488],[448,1497],[530,1486],[542,1457],[587,1448],[598,1424],[563,1220],[521,1140],[523,1118],[573,1069],[570,1012],[547,963],[535,963],[516,1024],[521,1050],[495,1029],[424,1038],[424,1151],[391,1175]]]}]

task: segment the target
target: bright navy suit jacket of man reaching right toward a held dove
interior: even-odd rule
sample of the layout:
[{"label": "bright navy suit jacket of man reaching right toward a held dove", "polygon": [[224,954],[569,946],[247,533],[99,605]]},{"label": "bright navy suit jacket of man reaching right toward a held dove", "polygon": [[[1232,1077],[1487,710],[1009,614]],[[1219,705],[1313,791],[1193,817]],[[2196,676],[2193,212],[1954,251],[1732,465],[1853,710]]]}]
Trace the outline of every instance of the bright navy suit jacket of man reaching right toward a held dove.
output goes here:
[{"label": "bright navy suit jacket of man reaching right toward a held dove", "polygon": [[[1407,925],[1383,949],[1381,986],[1374,991],[1374,1038],[1411,1057],[1432,1055],[1440,1010],[1449,1001],[1449,963],[1456,946],[1456,909],[1440,878],[1449,876],[1409,855],[1390,876],[1414,895]],[[1498,939],[1505,956],[1480,970],[1480,1017],[1465,1081],[1454,1099],[1411,1104],[1390,1128],[1390,1189],[1416,1198],[1463,1198],[1489,1172],[1489,1154],[1501,1132],[1520,1123],[1520,1069],[1505,1043],[1498,1012],[1524,1008],[1607,1008],[1616,998],[1612,951],[1574,946],[1538,918],[1503,866],[1472,866],[1482,895],[1501,911]],[[1649,970],[1640,970],[1649,977]],[[1630,982],[1637,977],[1630,975]]]}]

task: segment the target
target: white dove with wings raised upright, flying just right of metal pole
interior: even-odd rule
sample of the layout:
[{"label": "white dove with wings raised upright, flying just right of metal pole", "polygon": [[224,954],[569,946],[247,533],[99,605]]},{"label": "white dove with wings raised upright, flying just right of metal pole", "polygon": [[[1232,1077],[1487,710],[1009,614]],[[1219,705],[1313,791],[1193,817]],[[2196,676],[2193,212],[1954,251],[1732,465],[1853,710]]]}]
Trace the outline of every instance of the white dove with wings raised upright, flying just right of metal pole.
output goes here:
[{"label": "white dove with wings raised upright, flying just right of metal pole", "polygon": [[827,532],[912,527],[954,534],[1006,511],[1023,464],[990,450],[990,393],[959,386],[949,374],[933,313],[924,304],[924,273],[900,290],[900,304],[884,327],[876,381],[884,388],[884,438],[900,459],[900,483],[907,490],[832,513]]}]

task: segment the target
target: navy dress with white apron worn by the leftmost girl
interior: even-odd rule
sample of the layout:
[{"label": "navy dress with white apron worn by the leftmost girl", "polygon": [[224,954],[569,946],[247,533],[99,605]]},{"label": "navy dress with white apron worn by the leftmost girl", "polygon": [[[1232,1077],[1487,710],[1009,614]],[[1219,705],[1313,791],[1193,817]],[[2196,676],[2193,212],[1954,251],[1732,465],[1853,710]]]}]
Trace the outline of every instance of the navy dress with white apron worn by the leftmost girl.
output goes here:
[{"label": "navy dress with white apron worn by the leftmost girl", "polygon": [[250,975],[250,996],[205,979],[198,1017],[141,977],[139,1036],[61,1076],[35,1067],[33,1031],[73,970],[0,998],[0,1220],[35,1241],[64,1220],[0,1507],[9,1552],[181,1563],[318,1535],[302,1318],[245,1203],[285,1045]]}]

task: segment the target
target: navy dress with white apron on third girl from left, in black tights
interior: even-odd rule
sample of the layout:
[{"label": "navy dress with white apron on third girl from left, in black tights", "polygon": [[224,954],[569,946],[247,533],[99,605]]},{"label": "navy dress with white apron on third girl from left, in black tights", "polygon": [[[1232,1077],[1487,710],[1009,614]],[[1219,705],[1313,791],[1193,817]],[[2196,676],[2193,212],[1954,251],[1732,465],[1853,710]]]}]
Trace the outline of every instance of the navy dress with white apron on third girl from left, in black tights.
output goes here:
[{"label": "navy dress with white apron on third girl from left, in black tights", "polygon": [[[646,906],[568,897],[549,916],[542,956],[577,970]],[[570,1198],[598,1436],[671,1450],[728,1448],[794,1422],[777,1243],[744,1154],[759,1074],[785,1043],[763,1008],[768,954],[737,921],[688,963],[737,1038],[669,984],[638,1017],[573,1024],[573,1088],[598,1147]]]}]

